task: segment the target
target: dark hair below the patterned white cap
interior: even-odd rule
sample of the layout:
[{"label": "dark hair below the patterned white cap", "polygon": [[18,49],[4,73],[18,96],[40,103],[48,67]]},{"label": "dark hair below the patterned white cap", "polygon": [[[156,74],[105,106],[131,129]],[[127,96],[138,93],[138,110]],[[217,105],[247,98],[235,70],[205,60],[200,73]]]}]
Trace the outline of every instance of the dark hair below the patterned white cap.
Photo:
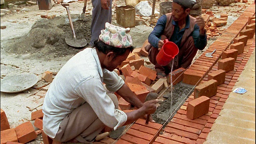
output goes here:
[{"label": "dark hair below the patterned white cap", "polygon": [[105,44],[101,40],[99,40],[98,42],[95,42],[94,47],[96,47],[100,52],[102,52],[104,54],[108,54],[108,52],[114,52],[115,58],[117,56],[123,55],[127,49],[129,49],[130,52],[132,52],[134,50],[134,46],[130,46],[128,48],[116,48],[114,46]]}]

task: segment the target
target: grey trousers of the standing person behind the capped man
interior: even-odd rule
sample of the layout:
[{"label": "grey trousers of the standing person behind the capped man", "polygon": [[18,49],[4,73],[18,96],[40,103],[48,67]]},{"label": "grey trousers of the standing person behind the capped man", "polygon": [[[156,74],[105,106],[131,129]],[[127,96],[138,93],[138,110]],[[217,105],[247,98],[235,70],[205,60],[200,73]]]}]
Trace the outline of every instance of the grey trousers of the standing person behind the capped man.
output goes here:
[{"label": "grey trousers of the standing person behind the capped man", "polygon": [[91,23],[91,40],[90,45],[94,46],[94,42],[98,41],[100,31],[105,29],[105,23],[111,23],[112,19],[112,0],[110,0],[109,10],[101,7],[100,0],[92,0],[92,23]]}]

